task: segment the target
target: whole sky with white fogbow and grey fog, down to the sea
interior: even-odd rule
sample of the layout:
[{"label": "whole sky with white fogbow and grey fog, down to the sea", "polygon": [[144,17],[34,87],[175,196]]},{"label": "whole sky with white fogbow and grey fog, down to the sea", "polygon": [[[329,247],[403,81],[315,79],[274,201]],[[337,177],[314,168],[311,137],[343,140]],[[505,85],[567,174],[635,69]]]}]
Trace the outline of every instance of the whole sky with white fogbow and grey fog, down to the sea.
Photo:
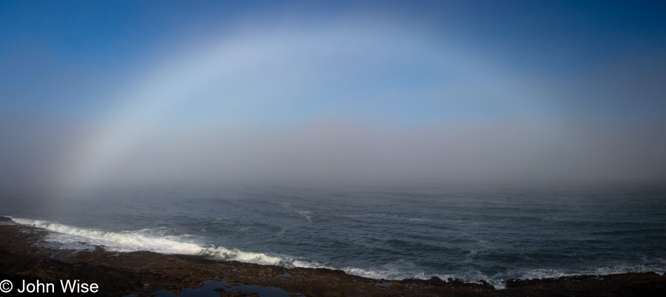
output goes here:
[{"label": "whole sky with white fogbow and grey fog, down to the sea", "polygon": [[[550,163],[541,160],[552,157],[559,169],[543,179],[662,179],[665,172],[648,164],[666,160],[663,141],[655,141],[665,136],[665,13],[660,1],[2,1],[0,116],[6,139],[15,139],[6,156],[34,159],[21,151],[52,147],[37,154],[57,163],[54,172],[95,167],[107,179],[109,164],[142,164],[141,151],[163,151],[152,165],[116,168],[149,176],[154,164],[192,154],[163,147],[215,131],[209,138],[244,135],[232,137],[245,145],[238,151],[283,147],[271,158],[288,155],[289,164],[304,162],[296,144],[312,137],[339,148],[304,151],[323,163],[303,170],[273,159],[263,168],[183,157],[191,162],[161,171],[216,164],[201,171],[220,179],[233,175],[223,167],[247,177],[287,170],[294,180],[348,172],[365,172],[354,179],[494,179],[503,172],[523,179],[543,172]],[[21,142],[25,133],[39,140]],[[264,138],[248,139],[252,133]],[[287,144],[278,134],[297,140]],[[384,148],[420,134],[412,141],[425,151]],[[172,142],[142,142],[156,135]],[[537,135],[543,138],[525,140]],[[217,149],[198,154],[224,151],[189,141]],[[496,142],[505,161],[477,165]],[[442,151],[450,143],[462,148]],[[562,147],[550,151],[554,143]],[[532,160],[514,153],[524,147]],[[378,151],[388,159],[363,170],[333,165]],[[256,154],[236,159],[270,155]],[[453,159],[466,161],[443,161]],[[562,159],[590,161],[562,167]],[[401,166],[413,174],[398,174]],[[315,170],[322,167],[334,169]],[[266,179],[273,175],[284,174]]]}]

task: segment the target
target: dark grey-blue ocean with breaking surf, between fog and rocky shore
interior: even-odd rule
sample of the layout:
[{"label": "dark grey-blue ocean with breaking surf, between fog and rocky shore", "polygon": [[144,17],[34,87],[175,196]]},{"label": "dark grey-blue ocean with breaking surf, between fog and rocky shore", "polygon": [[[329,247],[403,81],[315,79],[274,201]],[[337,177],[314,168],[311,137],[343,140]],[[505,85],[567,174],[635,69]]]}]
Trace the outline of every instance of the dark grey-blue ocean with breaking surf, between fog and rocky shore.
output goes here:
[{"label": "dark grey-blue ocean with breaking surf, between fog and rocky shore", "polygon": [[148,250],[383,279],[666,271],[666,187],[133,188],[3,194],[56,248]]}]

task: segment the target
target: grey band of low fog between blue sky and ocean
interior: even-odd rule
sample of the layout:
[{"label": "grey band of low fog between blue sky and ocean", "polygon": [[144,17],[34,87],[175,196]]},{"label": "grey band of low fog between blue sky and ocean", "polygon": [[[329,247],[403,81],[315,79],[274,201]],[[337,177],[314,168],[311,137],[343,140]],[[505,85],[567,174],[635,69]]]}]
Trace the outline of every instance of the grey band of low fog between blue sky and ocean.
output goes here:
[{"label": "grey band of low fog between blue sky and ocean", "polygon": [[0,132],[5,189],[666,179],[665,125],[657,124],[319,120],[283,127],[156,128],[96,155],[89,153],[90,139],[101,131],[95,127],[46,121],[3,127],[12,127]]}]

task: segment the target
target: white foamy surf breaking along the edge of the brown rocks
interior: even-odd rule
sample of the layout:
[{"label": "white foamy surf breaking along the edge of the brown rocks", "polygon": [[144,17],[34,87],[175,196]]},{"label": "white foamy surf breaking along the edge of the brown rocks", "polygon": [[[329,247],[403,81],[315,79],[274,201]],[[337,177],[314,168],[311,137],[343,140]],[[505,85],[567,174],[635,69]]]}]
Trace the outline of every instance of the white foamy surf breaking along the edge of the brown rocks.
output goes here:
[{"label": "white foamy surf breaking along the edge of the brown rocks", "polygon": [[[62,249],[92,249],[95,245],[104,246],[109,251],[154,251],[161,254],[192,254],[204,255],[222,260],[235,260],[247,263],[258,263],[266,265],[280,265],[287,268],[329,268],[338,269],[330,265],[322,264],[317,261],[304,261],[301,258],[294,258],[285,255],[267,255],[251,251],[240,251],[238,249],[227,249],[225,247],[215,247],[212,244],[201,244],[191,239],[189,235],[166,235],[160,230],[134,230],[109,232],[103,230],[93,230],[86,228],[77,228],[67,226],[57,222],[40,221],[33,219],[12,218],[15,223],[34,226],[51,230],[46,237],[48,242],[60,244]],[[474,256],[475,251],[470,251],[467,256]],[[663,261],[662,259],[659,259]],[[663,263],[663,262],[662,262]],[[476,282],[484,279],[497,289],[504,287],[505,279],[534,279],[545,277],[565,277],[574,275],[609,275],[613,273],[625,272],[649,272],[657,271],[662,273],[666,270],[664,265],[613,265],[602,268],[590,268],[589,270],[564,270],[564,269],[514,269],[499,272],[494,275],[484,275],[480,271],[468,271],[460,274],[433,274],[423,270],[406,269],[409,265],[405,263],[396,263],[395,265],[383,265],[374,268],[356,268],[344,267],[341,270],[361,277],[373,279],[429,279],[430,277],[440,277],[441,279],[463,279],[469,282]]]}]

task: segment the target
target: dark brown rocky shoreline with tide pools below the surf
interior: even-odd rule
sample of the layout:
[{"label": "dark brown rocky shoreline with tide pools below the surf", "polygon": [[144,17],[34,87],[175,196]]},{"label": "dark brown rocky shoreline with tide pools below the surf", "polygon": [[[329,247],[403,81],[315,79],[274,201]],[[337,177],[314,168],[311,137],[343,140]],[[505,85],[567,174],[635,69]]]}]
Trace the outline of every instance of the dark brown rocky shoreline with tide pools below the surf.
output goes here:
[{"label": "dark brown rocky shoreline with tide pools below the surf", "polygon": [[[11,219],[0,216],[0,221]],[[369,279],[341,270],[287,269],[203,256],[124,253],[102,247],[52,249],[41,244],[49,232],[0,224],[0,280],[13,284],[13,290],[1,296],[29,296],[24,284],[40,283],[54,284],[44,296],[666,296],[666,273],[508,279],[505,289],[495,289],[482,280]],[[88,291],[77,287],[78,293],[63,292],[61,280],[88,284]],[[99,289],[91,292],[90,284]]]}]

